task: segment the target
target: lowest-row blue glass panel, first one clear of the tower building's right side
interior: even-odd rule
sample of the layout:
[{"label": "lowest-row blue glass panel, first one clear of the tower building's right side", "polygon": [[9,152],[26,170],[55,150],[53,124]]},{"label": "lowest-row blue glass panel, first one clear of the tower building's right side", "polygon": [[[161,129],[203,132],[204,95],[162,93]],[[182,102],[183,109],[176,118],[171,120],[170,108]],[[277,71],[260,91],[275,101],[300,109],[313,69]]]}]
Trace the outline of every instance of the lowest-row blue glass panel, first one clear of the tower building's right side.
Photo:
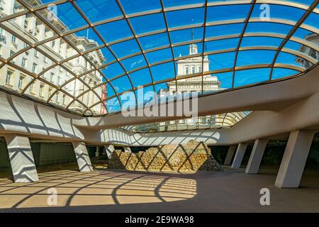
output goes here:
[{"label": "lowest-row blue glass panel, first one clear of the tower building's right side", "polygon": [[269,80],[270,69],[242,70],[235,72],[234,87],[255,84]]}]

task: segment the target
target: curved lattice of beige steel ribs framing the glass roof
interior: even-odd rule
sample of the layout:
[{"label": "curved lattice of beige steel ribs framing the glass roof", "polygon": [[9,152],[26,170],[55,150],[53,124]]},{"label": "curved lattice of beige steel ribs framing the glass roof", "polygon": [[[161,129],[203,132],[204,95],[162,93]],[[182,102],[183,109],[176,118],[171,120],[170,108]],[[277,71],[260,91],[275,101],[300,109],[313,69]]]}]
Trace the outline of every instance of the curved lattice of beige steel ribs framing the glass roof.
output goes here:
[{"label": "curved lattice of beige steel ribs framing the glass roof", "polygon": [[[270,1],[270,0],[242,0],[242,1],[209,1],[209,0],[203,0],[201,3],[196,3],[196,4],[187,4],[183,5],[180,4],[179,6],[169,6],[166,7],[164,0],[159,0],[159,6],[157,7],[158,9],[152,9],[151,7],[150,10],[148,11],[138,11],[135,13],[126,13],[125,12],[125,7],[123,6],[123,2],[121,0],[113,0],[114,4],[118,7],[118,9],[121,11],[121,15],[115,16],[113,18],[106,18],[102,19],[101,21],[90,21],[88,12],[84,11],[83,7],[78,4],[78,1],[71,1],[71,0],[59,0],[59,1],[49,1],[46,4],[42,4],[42,2],[38,1],[38,4],[36,5],[31,5],[30,2],[33,1],[28,1],[28,0],[16,0],[16,4],[19,4],[22,8],[21,11],[18,11],[16,13],[12,13],[11,15],[2,15],[2,18],[0,18],[0,28],[4,29],[5,31],[11,33],[12,35],[15,35],[17,38],[22,40],[24,43],[27,44],[27,46],[21,50],[18,50],[15,52],[13,55],[8,57],[7,59],[4,59],[0,57],[0,69],[4,67],[4,65],[9,65],[10,67],[15,68],[16,70],[19,70],[23,72],[24,74],[28,74],[28,76],[32,77],[30,82],[26,84],[26,87],[23,88],[23,90],[19,93],[21,95],[26,95],[26,90],[33,84],[35,81],[39,80],[40,82],[43,82],[45,84],[48,84],[50,87],[53,87],[55,89],[52,94],[48,97],[48,99],[45,101],[46,104],[50,104],[52,101],[53,97],[58,94],[62,93],[71,99],[71,101],[65,105],[65,109],[69,110],[69,107],[72,106],[74,103],[79,103],[84,107],[84,110],[82,114],[84,116],[90,116],[90,115],[101,115],[101,114],[94,114],[91,109],[94,108],[94,106],[102,105],[108,110],[108,114],[111,114],[112,111],[110,110],[108,106],[108,101],[117,99],[119,108],[121,109],[121,106],[123,104],[123,101],[120,99],[120,96],[122,94],[125,94],[127,92],[132,92],[135,96],[135,107],[138,107],[138,97],[136,95],[136,92],[138,89],[140,89],[140,86],[136,87],[134,86],[134,81],[131,77],[131,74],[133,72],[142,72],[141,70],[147,70],[150,73],[150,82],[145,82],[145,84],[142,84],[143,87],[152,87],[153,91],[157,93],[156,91],[156,85],[163,84],[166,82],[171,82],[175,81],[176,82],[176,89],[177,89],[177,82],[178,79],[185,79],[185,78],[191,78],[191,77],[201,77],[202,80],[202,92],[205,92],[203,88],[203,76],[209,75],[209,74],[220,74],[220,73],[225,73],[225,72],[232,72],[233,74],[233,80],[231,82],[232,86],[229,87],[229,89],[233,89],[235,87],[235,74],[238,71],[242,70],[253,70],[253,69],[269,69],[269,81],[273,79],[273,73],[275,68],[281,68],[281,69],[288,69],[288,70],[294,70],[296,73],[298,72],[305,72],[307,70],[307,67],[304,67],[302,65],[291,65],[287,64],[286,62],[279,62],[278,57],[281,53],[286,53],[288,55],[293,55],[296,56],[308,63],[310,65],[316,65],[318,64],[318,59],[313,58],[313,56],[309,55],[307,52],[302,52],[301,50],[293,50],[291,48],[286,48],[286,44],[289,43],[290,41],[295,42],[300,44],[301,46],[305,46],[307,48],[311,48],[314,50],[316,53],[319,52],[319,44],[312,43],[310,40],[307,40],[306,38],[300,38],[294,36],[296,31],[298,31],[299,28],[302,28],[306,31],[309,31],[309,33],[313,34],[319,34],[319,25],[318,21],[315,22],[315,26],[313,24],[308,24],[305,23],[307,21],[307,18],[309,18],[310,15],[317,15],[319,14],[319,8],[318,8],[318,0],[313,1],[312,4],[306,5],[306,4],[301,4],[296,1],[283,1],[283,0],[278,0],[278,1]],[[45,1],[47,2],[47,1]],[[61,31],[60,29],[56,28],[54,24],[52,24],[50,21],[45,18],[45,15],[43,15],[43,11],[48,11],[48,7],[52,6],[52,4],[55,4],[57,7],[62,6],[63,4],[71,4],[72,9],[74,12],[77,12],[85,24],[83,26],[78,26],[76,28],[68,28],[65,26],[64,31]],[[287,7],[288,9],[298,9],[301,10],[303,13],[300,17],[298,17],[298,20],[293,21],[287,18],[271,18],[270,21],[260,21],[260,18],[255,18],[252,17],[254,9],[257,8],[257,5],[259,4],[269,4],[273,6],[283,6]],[[219,20],[219,21],[208,21],[208,9],[212,9],[212,7],[218,7],[218,6],[247,6],[249,7],[249,11],[247,12],[247,15],[245,18],[231,18],[228,20]],[[192,9],[203,9],[203,21],[202,23],[189,23],[189,24],[184,24],[184,25],[179,25],[179,26],[169,26],[169,21],[167,19],[167,13],[171,12],[177,12],[177,11],[183,11],[183,10],[192,10]],[[107,11],[105,12],[106,14],[108,13]],[[25,16],[25,15],[33,15],[37,20],[39,20],[41,23],[45,25],[46,28],[50,29],[52,31],[53,35],[49,38],[45,38],[44,40],[36,40],[34,38],[34,42],[31,42],[28,40],[28,38],[23,37],[23,35],[20,35],[19,33],[16,33],[11,29],[9,26],[9,23],[14,20],[15,18],[18,18],[20,16]],[[152,31],[150,29],[147,32],[144,33],[137,33],[134,29],[134,26],[130,19],[132,18],[138,18],[140,16],[152,16],[152,15],[161,15],[161,18],[164,20],[164,28],[161,28],[159,30]],[[60,19],[57,16],[58,19]],[[130,35],[124,37],[124,38],[118,38],[116,40],[111,40],[108,42],[104,35],[101,34],[101,29],[99,26],[103,26],[106,24],[110,24],[112,22],[117,22],[117,21],[125,21],[126,25],[130,29]],[[282,33],[272,33],[269,31],[264,31],[264,32],[247,32],[247,26],[253,23],[274,23],[274,24],[281,24],[281,25],[286,25],[290,26],[291,30],[287,34],[282,34]],[[213,36],[213,37],[206,37],[207,34],[207,28],[212,28],[216,26],[223,26],[223,25],[234,25],[242,23],[244,26],[242,28],[242,31],[240,33],[231,33],[229,35],[220,35],[220,36]],[[199,38],[192,38],[190,40],[184,40],[178,43],[173,42],[172,40],[172,33],[177,32],[177,31],[187,31],[189,29],[203,29],[203,33],[201,37]],[[89,50],[79,50],[79,48],[72,43],[72,40],[70,40],[69,35],[76,35],[76,33],[81,32],[81,31],[86,31],[87,29],[91,29],[91,31],[94,31],[94,34],[96,35],[99,40],[101,40],[101,43],[97,43],[96,47],[91,48]],[[118,28],[121,30],[122,28]],[[150,49],[145,50],[145,48],[142,47],[142,44],[140,43],[140,38],[147,38],[150,37],[150,35],[159,35],[159,34],[165,34],[167,35],[168,38],[168,43],[165,45],[159,45],[157,47],[153,47]],[[264,45],[252,45],[249,47],[242,47],[242,40],[244,38],[258,38],[258,37],[263,37],[263,38],[280,38],[281,43],[278,46],[269,46],[267,43],[264,43]],[[216,41],[216,40],[230,40],[230,39],[238,39],[237,45],[234,45],[231,48],[223,48],[221,50],[209,50],[206,51],[206,43],[211,42],[211,41]],[[54,56],[52,57],[51,55],[47,54],[43,50],[43,45],[45,45],[48,42],[52,42],[53,40],[58,40],[61,39],[67,45],[72,48],[76,52],[76,54],[72,56],[65,57],[65,59],[57,59]],[[123,48],[125,48],[124,43],[129,41],[129,40],[134,40],[137,45],[139,50],[137,52],[133,53],[128,53],[123,56],[118,56],[116,52],[114,52],[113,45],[122,45]],[[175,56],[174,53],[174,48],[181,47],[184,45],[190,45],[193,43],[201,43],[201,50],[198,51],[197,55],[184,55],[177,57]],[[111,53],[111,56],[113,57],[114,60],[111,60],[109,62],[104,62],[102,65],[96,65],[94,62],[92,62],[89,57],[87,56],[88,54],[96,51],[102,50],[102,48],[106,48],[108,52]],[[48,59],[52,61],[52,65],[50,67],[45,68],[44,70],[41,70],[39,73],[34,73],[34,72],[29,72],[28,70],[24,69],[23,67],[20,67],[18,65],[15,65],[12,60],[15,59],[15,57],[23,55],[24,52],[28,50],[37,50],[40,52],[40,54],[44,55]],[[172,57],[169,59],[165,60],[159,60],[155,62],[150,62],[147,54],[149,53],[155,53],[160,50],[169,50],[172,52]],[[272,61],[262,64],[252,64],[252,65],[237,65],[237,62],[239,59],[239,55],[241,52],[245,51],[252,51],[252,50],[265,50],[265,51],[272,51],[274,52],[274,57],[272,58]],[[209,70],[209,71],[203,71],[201,73],[195,73],[195,74],[187,74],[187,75],[179,75],[177,77],[177,66],[176,62],[178,60],[184,60],[184,59],[189,59],[192,57],[202,57],[202,68],[204,64],[204,57],[209,56],[209,55],[217,55],[217,54],[222,54],[222,53],[229,53],[229,52],[235,52],[235,60],[233,62],[233,67],[226,67],[226,68],[220,68],[218,70]],[[123,65],[124,60],[129,60],[132,57],[138,57],[140,56],[142,60],[145,61],[145,65],[142,65],[140,67],[136,67],[133,69],[128,70],[125,68],[125,65]],[[72,70],[69,70],[68,67],[65,66],[67,62],[70,60],[74,60],[77,57],[83,57],[86,62],[89,63],[91,70],[86,69],[85,72],[82,74],[76,74],[72,72]],[[158,65],[163,65],[165,63],[172,62],[174,65],[174,75],[172,77],[166,78],[166,79],[159,79],[155,80],[152,67],[158,66]],[[114,77],[109,77],[108,74],[105,74],[103,70],[107,69],[109,66],[113,64],[118,64],[123,73],[116,74]],[[50,70],[54,69],[55,67],[62,67],[66,72],[68,72],[71,77],[65,81],[63,84],[55,84],[53,82],[47,81],[44,79],[42,76],[46,72],[50,72]],[[86,74],[90,73],[95,73],[97,72],[98,74],[101,74],[103,80],[99,82],[98,84],[95,84],[93,87],[90,86],[90,84],[87,84],[86,81],[83,79]],[[296,75],[296,73],[291,74]],[[130,83],[129,89],[125,89],[123,91],[118,91],[116,89],[116,86],[114,85],[114,82],[116,79],[120,79],[123,77],[128,78],[128,82]],[[73,95],[70,94],[65,87],[67,84],[79,80],[86,89],[81,94]],[[96,92],[96,89],[101,87],[102,85],[109,85],[109,89],[113,90],[113,94],[102,97],[101,94],[98,94]],[[83,101],[80,100],[82,96],[85,94],[93,93],[95,96],[98,97],[97,102],[94,104],[91,104],[91,106],[86,106]],[[118,111],[118,110],[116,110]]]}]

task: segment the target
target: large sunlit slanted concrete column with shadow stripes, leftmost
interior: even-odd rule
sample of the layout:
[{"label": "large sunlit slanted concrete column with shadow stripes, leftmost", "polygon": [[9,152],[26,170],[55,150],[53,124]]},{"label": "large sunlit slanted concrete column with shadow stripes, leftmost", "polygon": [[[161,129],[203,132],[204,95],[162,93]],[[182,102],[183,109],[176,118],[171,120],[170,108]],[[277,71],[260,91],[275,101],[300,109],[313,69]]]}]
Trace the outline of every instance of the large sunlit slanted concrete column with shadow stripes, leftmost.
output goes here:
[{"label": "large sunlit slanted concrete column with shadow stripes, leftmost", "polygon": [[30,141],[27,137],[5,135],[14,182],[39,180]]}]

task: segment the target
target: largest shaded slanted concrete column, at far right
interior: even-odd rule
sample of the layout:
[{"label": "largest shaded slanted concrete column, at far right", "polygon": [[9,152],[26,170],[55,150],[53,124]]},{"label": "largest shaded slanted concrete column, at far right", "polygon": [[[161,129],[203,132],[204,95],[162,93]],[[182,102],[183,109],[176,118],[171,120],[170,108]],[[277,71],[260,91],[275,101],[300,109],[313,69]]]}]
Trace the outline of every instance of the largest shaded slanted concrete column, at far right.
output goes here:
[{"label": "largest shaded slanted concrete column, at far right", "polygon": [[276,177],[276,187],[299,187],[314,135],[314,131],[293,131],[290,133]]}]

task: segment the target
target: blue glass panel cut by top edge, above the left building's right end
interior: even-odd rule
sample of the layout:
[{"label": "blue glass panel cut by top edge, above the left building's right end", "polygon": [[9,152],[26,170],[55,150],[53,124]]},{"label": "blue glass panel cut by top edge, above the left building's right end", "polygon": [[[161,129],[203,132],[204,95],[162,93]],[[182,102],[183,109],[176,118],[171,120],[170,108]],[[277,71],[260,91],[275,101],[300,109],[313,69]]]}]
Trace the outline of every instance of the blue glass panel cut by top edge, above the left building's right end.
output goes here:
[{"label": "blue glass panel cut by top edge, above the left building's right end", "polygon": [[75,3],[92,23],[123,15],[115,0],[77,0]]}]

